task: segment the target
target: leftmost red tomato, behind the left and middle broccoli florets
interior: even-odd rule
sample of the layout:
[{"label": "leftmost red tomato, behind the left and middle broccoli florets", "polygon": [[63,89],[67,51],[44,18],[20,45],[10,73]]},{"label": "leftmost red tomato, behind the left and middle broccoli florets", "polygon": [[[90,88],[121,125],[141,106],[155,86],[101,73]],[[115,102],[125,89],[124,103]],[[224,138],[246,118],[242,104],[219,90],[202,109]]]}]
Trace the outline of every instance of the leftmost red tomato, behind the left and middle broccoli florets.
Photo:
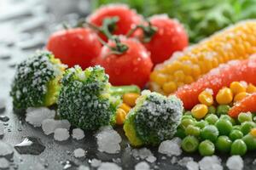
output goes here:
[{"label": "leftmost red tomato, behind the left and middle broccoli florets", "polygon": [[53,33],[49,37],[47,48],[69,67],[80,65],[85,69],[99,55],[102,44],[94,31],[74,28]]}]

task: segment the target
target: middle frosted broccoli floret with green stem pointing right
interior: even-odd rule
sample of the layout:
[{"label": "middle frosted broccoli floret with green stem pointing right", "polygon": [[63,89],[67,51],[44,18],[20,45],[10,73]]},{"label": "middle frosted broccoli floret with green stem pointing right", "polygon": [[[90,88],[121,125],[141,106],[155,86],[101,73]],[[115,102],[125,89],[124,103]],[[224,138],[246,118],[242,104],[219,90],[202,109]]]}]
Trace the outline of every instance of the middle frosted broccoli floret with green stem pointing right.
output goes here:
[{"label": "middle frosted broccoli floret with green stem pointing right", "polygon": [[115,124],[115,113],[125,92],[139,93],[137,86],[113,87],[101,66],[83,71],[68,69],[62,79],[58,113],[73,126],[95,130]]}]

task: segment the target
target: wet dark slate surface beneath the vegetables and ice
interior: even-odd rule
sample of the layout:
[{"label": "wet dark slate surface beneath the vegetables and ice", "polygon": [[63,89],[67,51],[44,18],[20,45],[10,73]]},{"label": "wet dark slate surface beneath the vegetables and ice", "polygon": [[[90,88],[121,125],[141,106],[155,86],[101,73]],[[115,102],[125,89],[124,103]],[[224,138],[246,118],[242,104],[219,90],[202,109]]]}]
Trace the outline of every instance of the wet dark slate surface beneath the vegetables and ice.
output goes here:
[{"label": "wet dark slate surface beneath the vegetables and ice", "polygon": [[[97,151],[93,133],[86,132],[85,138],[80,141],[68,139],[65,142],[56,142],[53,135],[44,135],[41,128],[32,127],[24,121],[24,116],[18,116],[12,111],[9,84],[14,76],[15,64],[31,55],[36,49],[44,47],[49,32],[60,28],[55,23],[60,23],[61,20],[74,23],[79,16],[85,15],[89,10],[88,1],[48,0],[43,3],[39,0],[5,0],[0,2],[0,7],[0,116],[9,117],[8,121],[5,120],[6,122],[0,121],[5,125],[5,134],[0,140],[15,146],[21,142],[22,137],[31,136],[40,139],[46,147],[44,152],[38,156],[20,155],[15,150],[10,169],[38,169],[38,163],[47,169],[63,169],[66,161],[73,162],[73,166],[68,169],[77,169],[81,164],[90,167],[90,160],[93,158],[115,162],[123,169],[133,169],[139,161],[131,156],[131,148],[120,127],[116,130],[123,137],[122,150],[119,154],[109,155]],[[74,158],[73,150],[77,148],[86,150],[86,157]],[[157,148],[150,149],[157,158],[154,163],[149,163],[150,167],[185,169],[172,164],[172,157],[158,154]],[[218,156],[225,164],[227,156]],[[179,156],[178,159],[182,157]],[[201,159],[198,155],[193,155],[193,157],[195,161]],[[253,165],[255,157],[254,153],[244,157],[245,169],[256,169]]]}]

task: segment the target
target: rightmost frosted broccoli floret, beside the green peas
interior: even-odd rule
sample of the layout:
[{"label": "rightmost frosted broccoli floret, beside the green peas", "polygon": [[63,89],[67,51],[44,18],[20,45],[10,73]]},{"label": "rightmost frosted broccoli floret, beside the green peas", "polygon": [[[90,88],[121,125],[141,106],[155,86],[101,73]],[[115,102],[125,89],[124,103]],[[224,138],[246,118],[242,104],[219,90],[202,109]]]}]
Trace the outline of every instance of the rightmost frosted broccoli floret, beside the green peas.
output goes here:
[{"label": "rightmost frosted broccoli floret, beside the green peas", "polygon": [[183,115],[183,103],[175,96],[163,96],[148,90],[137,99],[128,113],[124,130],[134,146],[160,144],[172,139]]}]

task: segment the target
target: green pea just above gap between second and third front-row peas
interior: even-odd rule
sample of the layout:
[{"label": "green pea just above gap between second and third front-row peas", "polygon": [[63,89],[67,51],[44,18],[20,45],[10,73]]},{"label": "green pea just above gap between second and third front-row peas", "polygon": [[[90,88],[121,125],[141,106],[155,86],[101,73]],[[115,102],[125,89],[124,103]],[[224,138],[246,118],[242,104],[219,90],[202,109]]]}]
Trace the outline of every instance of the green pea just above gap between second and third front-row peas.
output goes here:
[{"label": "green pea just above gap between second and third front-row peas", "polygon": [[209,139],[212,142],[215,142],[218,138],[218,128],[213,125],[207,125],[201,130],[201,138]]}]

